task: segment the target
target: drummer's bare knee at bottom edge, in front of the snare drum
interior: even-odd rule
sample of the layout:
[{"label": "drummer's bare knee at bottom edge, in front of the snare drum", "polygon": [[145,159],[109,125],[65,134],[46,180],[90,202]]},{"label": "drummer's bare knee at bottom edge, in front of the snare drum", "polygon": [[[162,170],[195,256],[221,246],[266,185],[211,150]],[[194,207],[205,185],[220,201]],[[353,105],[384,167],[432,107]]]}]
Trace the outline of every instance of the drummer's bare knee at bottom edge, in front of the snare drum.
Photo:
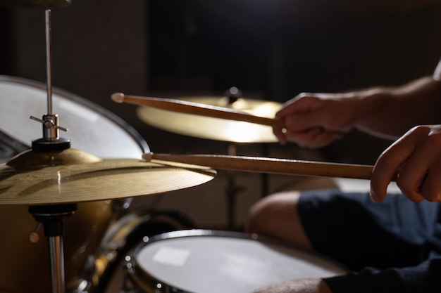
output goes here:
[{"label": "drummer's bare knee at bottom edge, in front of the snare drum", "polygon": [[271,285],[254,293],[332,293],[321,279],[292,280]]}]

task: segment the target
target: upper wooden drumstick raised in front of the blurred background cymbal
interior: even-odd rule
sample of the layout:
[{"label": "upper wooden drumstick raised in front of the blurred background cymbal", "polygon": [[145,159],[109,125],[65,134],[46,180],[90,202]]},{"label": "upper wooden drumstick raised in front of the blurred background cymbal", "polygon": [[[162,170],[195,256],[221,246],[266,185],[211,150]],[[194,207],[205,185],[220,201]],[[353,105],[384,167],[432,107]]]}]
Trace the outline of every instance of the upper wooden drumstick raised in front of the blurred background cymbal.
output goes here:
[{"label": "upper wooden drumstick raised in front of the blurred background cymbal", "polygon": [[259,117],[247,112],[233,110],[229,108],[216,107],[201,103],[187,102],[185,100],[175,100],[170,98],[151,98],[140,96],[126,96],[123,93],[113,93],[112,100],[116,103],[131,103],[135,105],[145,105],[162,110],[182,112],[193,115],[201,115],[220,119],[229,119],[242,122],[250,122],[272,127],[284,128],[282,120],[268,117]]}]

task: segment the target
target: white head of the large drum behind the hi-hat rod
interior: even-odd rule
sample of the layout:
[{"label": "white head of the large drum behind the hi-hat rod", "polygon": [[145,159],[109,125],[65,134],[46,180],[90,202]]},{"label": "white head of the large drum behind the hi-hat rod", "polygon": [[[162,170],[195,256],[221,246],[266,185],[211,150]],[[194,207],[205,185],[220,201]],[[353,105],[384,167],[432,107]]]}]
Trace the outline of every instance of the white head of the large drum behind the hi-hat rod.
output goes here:
[{"label": "white head of the large drum behind the hi-hat rod", "polygon": [[43,132],[42,124],[30,116],[41,119],[45,114],[57,114],[60,126],[68,128],[60,136],[70,139],[72,148],[101,158],[141,159],[143,152],[149,152],[142,137],[110,111],[56,88],[52,101],[54,113],[47,113],[45,84],[0,76],[0,130],[31,145]]}]

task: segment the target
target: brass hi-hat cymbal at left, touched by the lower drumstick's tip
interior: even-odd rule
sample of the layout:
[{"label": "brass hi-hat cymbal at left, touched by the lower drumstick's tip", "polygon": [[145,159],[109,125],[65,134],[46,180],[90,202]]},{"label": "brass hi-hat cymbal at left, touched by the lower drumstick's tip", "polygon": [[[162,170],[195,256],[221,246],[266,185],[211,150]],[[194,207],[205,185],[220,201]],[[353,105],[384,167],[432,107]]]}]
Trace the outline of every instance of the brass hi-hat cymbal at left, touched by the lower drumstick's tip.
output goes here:
[{"label": "brass hi-hat cymbal at left, touched by the lower drumstick's tip", "polygon": [[154,195],[206,183],[209,167],[29,150],[0,166],[0,204],[61,204]]}]

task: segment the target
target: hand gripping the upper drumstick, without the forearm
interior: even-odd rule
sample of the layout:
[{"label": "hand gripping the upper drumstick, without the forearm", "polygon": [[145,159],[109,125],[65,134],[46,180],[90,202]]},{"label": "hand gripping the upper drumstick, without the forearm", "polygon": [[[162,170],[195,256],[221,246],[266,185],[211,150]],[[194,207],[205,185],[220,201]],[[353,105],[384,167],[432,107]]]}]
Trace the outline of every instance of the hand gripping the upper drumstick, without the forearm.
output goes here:
[{"label": "hand gripping the upper drumstick, without the forearm", "polygon": [[321,148],[352,129],[352,100],[343,94],[301,93],[277,112],[275,117],[285,128],[274,128],[273,132],[282,145],[291,141],[306,148]]}]

